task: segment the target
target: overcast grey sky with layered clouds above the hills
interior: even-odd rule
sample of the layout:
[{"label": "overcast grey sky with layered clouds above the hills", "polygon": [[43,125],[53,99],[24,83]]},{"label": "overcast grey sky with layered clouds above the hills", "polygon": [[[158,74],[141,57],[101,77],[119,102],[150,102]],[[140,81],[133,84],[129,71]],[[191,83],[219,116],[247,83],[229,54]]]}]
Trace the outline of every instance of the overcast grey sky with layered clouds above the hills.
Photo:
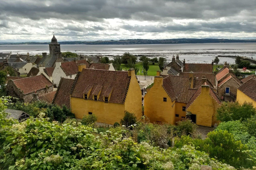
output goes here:
[{"label": "overcast grey sky with layered clouds above the hills", "polygon": [[256,39],[256,0],[0,0],[0,42]]}]

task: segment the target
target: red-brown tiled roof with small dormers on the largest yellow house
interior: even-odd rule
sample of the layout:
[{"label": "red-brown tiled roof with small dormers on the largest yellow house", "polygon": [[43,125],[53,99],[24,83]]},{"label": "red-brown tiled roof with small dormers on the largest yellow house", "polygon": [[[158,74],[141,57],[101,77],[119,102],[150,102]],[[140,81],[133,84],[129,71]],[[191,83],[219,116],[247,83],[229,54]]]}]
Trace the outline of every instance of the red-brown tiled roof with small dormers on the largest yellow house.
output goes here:
[{"label": "red-brown tiled roof with small dormers on the largest yellow house", "polygon": [[107,71],[97,69],[83,69],[78,73],[71,97],[83,98],[84,91],[87,87],[92,87],[92,91],[88,99],[93,100],[92,92],[102,87],[99,101],[104,101],[103,96],[109,93],[109,89],[113,88],[109,103],[123,104],[126,93],[129,88],[131,77],[125,71]]}]

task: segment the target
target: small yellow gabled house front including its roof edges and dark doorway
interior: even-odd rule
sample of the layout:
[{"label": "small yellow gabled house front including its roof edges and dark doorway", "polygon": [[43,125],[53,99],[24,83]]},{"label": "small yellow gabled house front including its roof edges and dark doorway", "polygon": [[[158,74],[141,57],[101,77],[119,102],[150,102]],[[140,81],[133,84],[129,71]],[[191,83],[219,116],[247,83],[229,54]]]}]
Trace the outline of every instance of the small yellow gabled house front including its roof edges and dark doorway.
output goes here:
[{"label": "small yellow gabled house front including its roof edges and dark doorway", "polygon": [[220,100],[210,86],[203,84],[189,100],[186,111],[190,119],[197,125],[214,126],[217,122],[215,114]]}]

